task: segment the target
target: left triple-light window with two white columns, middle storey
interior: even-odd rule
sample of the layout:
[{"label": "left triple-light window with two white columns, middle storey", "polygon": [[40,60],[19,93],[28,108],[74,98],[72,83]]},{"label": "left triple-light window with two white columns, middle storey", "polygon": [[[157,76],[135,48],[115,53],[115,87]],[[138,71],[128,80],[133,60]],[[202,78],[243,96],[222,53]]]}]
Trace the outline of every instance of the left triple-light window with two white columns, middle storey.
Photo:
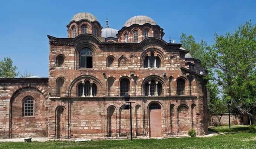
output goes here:
[{"label": "left triple-light window with two white columns, middle storey", "polygon": [[86,81],[84,84],[80,83],[77,88],[78,97],[93,97],[97,94],[97,86],[95,83]]}]

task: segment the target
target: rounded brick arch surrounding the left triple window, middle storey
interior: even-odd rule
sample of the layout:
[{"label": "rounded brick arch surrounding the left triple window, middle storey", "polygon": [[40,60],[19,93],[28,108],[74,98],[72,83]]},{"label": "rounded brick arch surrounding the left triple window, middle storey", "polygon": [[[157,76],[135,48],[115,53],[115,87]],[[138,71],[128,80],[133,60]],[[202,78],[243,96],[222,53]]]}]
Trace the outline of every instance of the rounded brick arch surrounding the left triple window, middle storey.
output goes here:
[{"label": "rounded brick arch surrounding the left triple window, middle storey", "polygon": [[[97,79],[94,76],[90,76],[90,75],[82,75],[82,76],[76,77],[76,79],[74,79],[70,83],[69,90],[68,90],[68,95],[69,96],[71,96],[72,94],[76,95],[77,92],[76,92],[76,89],[74,89],[74,86],[76,87],[78,83],[80,83],[81,81],[85,82],[86,80],[89,80],[90,82],[93,82],[93,83],[96,84],[97,94],[102,94],[103,93],[104,87],[103,87],[103,84],[101,83],[101,81],[99,79]],[[100,91],[100,92],[98,92],[98,91]]]}]

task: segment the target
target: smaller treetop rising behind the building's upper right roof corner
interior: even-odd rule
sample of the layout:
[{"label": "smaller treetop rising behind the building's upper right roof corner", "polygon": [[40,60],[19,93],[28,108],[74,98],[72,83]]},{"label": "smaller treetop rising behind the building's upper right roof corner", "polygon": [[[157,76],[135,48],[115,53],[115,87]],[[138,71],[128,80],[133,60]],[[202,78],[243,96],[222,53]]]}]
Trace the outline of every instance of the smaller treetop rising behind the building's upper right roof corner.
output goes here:
[{"label": "smaller treetop rising behind the building's upper right roof corner", "polygon": [[202,60],[207,46],[206,42],[201,40],[200,43],[197,43],[193,35],[186,36],[184,33],[180,36],[180,42],[182,47],[190,52],[191,56]]}]

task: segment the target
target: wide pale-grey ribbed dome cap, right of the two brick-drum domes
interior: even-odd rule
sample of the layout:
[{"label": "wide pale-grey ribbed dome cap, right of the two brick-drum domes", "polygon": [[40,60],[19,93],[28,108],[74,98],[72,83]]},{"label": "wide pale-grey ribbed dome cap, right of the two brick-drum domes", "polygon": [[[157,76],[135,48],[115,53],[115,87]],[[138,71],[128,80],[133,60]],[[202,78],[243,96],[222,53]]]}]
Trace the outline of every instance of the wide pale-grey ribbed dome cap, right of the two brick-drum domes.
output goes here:
[{"label": "wide pale-grey ribbed dome cap, right of the two brick-drum domes", "polygon": [[124,24],[124,27],[129,27],[132,24],[139,24],[139,25],[143,25],[143,24],[151,24],[151,25],[157,25],[157,23],[150,17],[147,17],[145,15],[137,15],[134,17],[131,17],[129,20],[127,20]]}]

